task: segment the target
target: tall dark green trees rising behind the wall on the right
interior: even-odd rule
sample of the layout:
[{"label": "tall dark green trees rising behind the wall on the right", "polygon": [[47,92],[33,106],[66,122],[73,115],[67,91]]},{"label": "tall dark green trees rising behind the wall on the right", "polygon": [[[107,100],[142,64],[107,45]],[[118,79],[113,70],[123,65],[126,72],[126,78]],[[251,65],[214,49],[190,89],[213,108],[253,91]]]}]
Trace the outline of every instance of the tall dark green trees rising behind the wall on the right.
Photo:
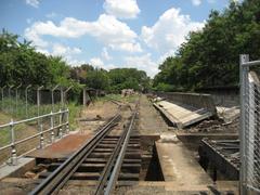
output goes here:
[{"label": "tall dark green trees rising behind the wall on the right", "polygon": [[239,54],[257,60],[259,46],[260,1],[231,1],[223,13],[211,11],[205,27],[190,32],[176,55],[159,65],[153,86],[164,91],[192,91],[238,84]]}]

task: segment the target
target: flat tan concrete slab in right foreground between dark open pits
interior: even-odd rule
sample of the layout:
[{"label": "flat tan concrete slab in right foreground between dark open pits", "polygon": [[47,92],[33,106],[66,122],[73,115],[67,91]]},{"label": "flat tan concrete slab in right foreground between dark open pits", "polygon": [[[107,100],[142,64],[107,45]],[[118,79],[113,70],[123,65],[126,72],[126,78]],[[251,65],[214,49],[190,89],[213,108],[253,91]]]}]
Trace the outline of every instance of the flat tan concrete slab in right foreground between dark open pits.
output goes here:
[{"label": "flat tan concrete slab in right foreground between dark open pits", "polygon": [[173,143],[155,143],[165,181],[184,185],[208,185],[212,180],[193,158],[193,154],[178,140]]}]

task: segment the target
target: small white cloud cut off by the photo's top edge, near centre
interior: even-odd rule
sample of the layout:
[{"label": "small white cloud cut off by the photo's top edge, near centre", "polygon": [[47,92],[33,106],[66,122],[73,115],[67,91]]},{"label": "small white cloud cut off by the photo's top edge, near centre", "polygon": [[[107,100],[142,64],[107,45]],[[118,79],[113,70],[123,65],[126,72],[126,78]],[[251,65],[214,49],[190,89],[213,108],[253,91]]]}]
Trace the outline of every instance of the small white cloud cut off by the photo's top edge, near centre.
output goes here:
[{"label": "small white cloud cut off by the photo's top edge, near centre", "polygon": [[135,18],[140,13],[136,0],[105,0],[103,8],[119,18]]}]

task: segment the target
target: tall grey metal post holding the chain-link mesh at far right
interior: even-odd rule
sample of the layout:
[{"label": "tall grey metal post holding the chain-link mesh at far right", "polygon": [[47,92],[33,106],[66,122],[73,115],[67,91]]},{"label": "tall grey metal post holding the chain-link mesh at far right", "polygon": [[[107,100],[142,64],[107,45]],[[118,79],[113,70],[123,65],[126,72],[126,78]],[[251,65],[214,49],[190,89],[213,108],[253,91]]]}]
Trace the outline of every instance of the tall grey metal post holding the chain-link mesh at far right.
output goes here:
[{"label": "tall grey metal post holding the chain-link mesh at far right", "polygon": [[240,171],[239,171],[239,192],[240,194],[247,194],[246,187],[246,87],[248,82],[248,72],[249,67],[244,66],[243,64],[249,62],[249,55],[240,55],[240,74],[239,74],[239,82],[240,82],[240,131],[239,131],[239,140],[240,140]]}]

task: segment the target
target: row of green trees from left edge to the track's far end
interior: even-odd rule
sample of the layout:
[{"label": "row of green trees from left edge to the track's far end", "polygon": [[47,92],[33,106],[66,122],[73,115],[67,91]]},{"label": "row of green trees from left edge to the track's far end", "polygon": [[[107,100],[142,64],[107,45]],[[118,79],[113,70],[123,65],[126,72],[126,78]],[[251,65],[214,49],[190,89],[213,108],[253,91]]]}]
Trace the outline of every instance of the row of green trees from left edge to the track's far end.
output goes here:
[{"label": "row of green trees from left edge to the track's far end", "polygon": [[142,90],[150,84],[145,72],[136,68],[116,68],[109,72],[90,64],[69,66],[62,56],[37,52],[30,42],[20,41],[17,35],[2,30],[0,34],[0,87],[74,84],[119,92],[131,88]]}]

